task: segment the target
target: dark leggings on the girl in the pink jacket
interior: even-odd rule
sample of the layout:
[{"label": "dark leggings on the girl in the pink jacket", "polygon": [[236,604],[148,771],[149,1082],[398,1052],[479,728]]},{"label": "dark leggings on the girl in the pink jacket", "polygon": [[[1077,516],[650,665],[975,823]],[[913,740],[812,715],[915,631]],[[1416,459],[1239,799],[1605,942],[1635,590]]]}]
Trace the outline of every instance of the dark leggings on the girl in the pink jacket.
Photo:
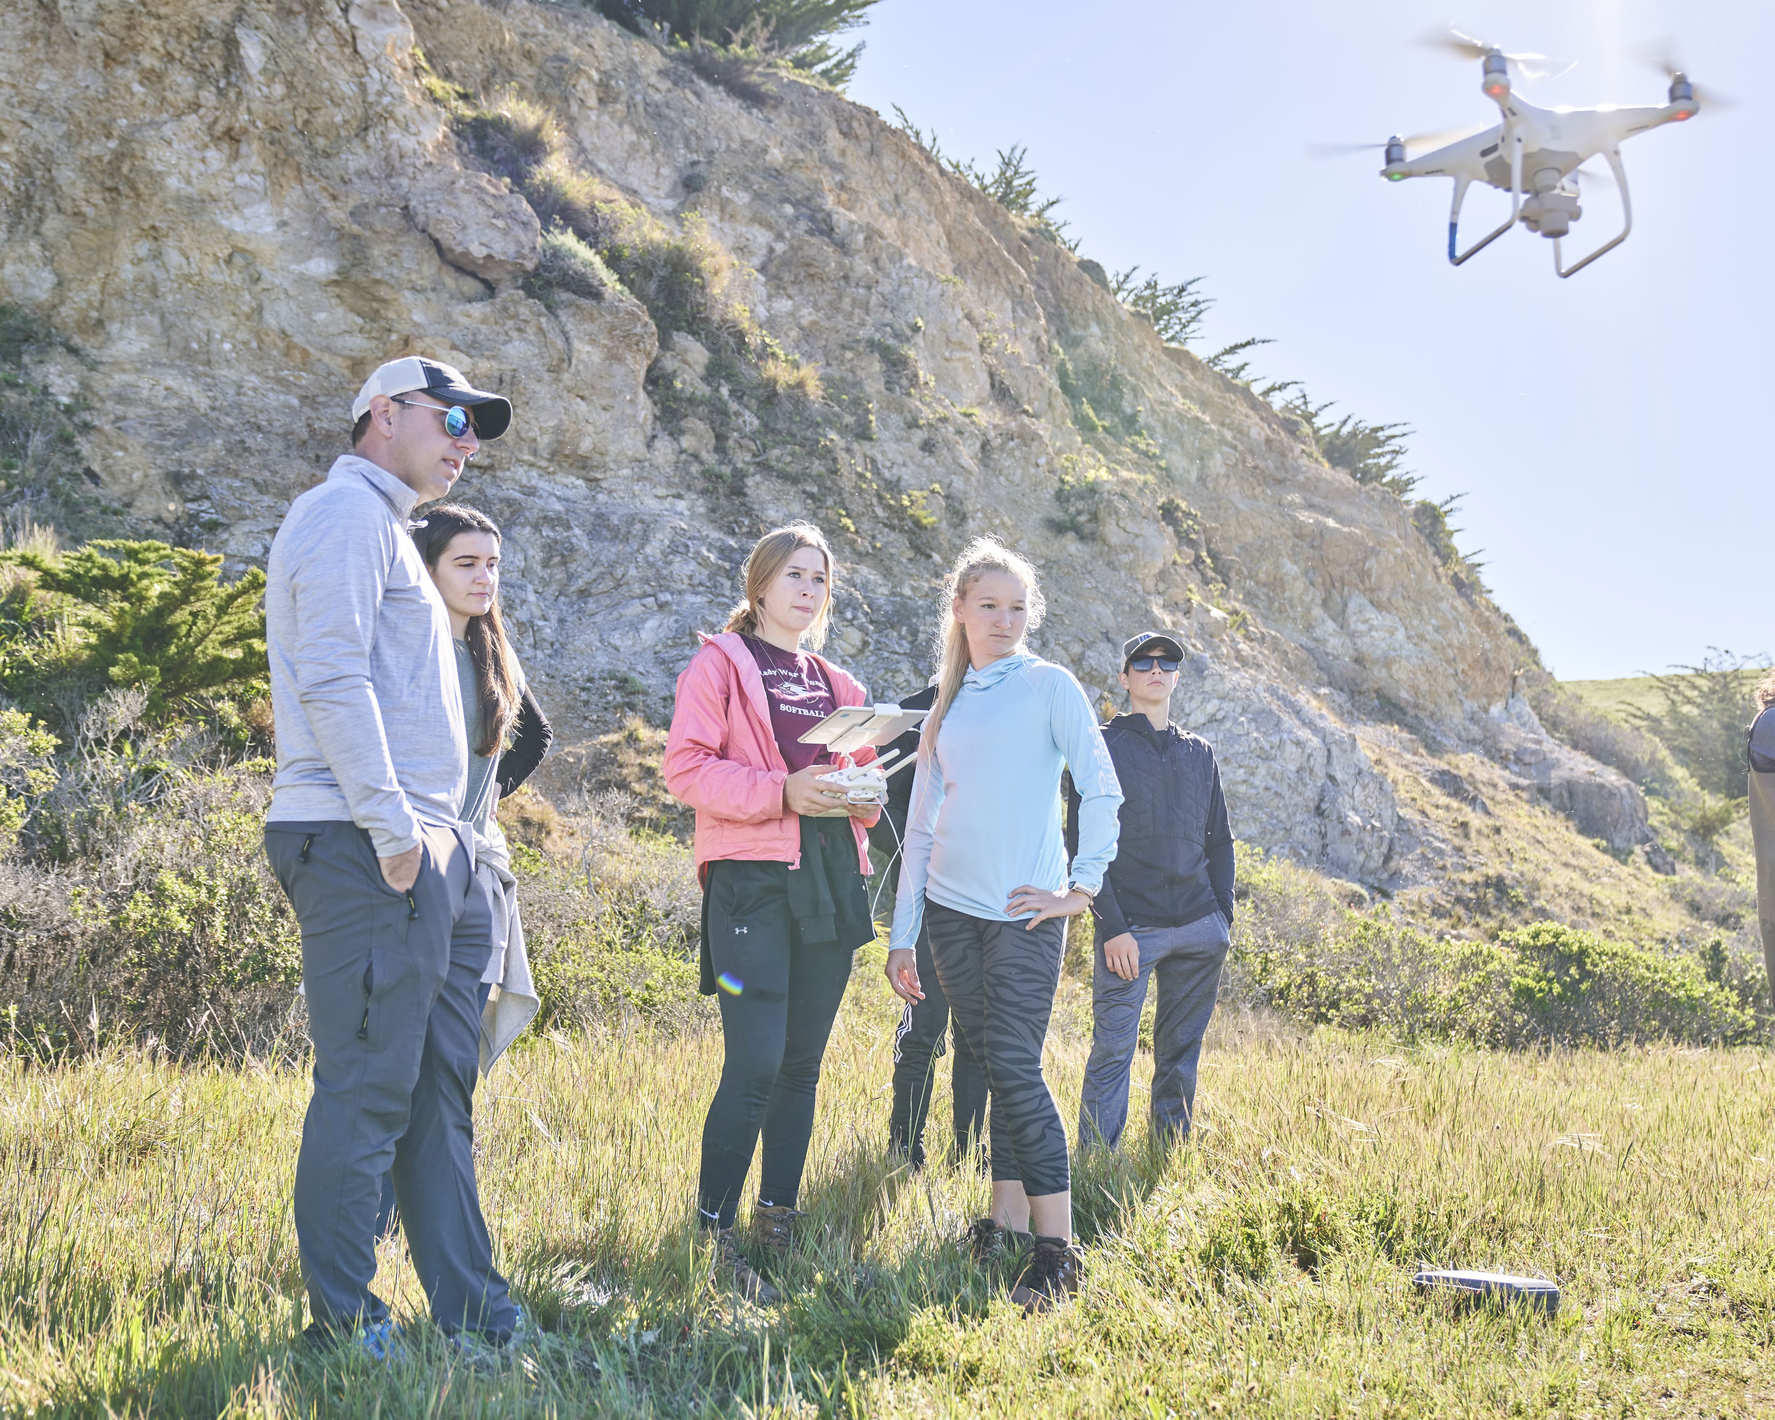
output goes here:
[{"label": "dark leggings on the girl in the pink jacket", "polygon": [[801,941],[786,880],[783,863],[717,861],[703,889],[726,1054],[703,1122],[698,1207],[722,1228],[733,1227],[760,1127],[758,1200],[795,1205],[820,1060],[850,982],[850,948]]}]

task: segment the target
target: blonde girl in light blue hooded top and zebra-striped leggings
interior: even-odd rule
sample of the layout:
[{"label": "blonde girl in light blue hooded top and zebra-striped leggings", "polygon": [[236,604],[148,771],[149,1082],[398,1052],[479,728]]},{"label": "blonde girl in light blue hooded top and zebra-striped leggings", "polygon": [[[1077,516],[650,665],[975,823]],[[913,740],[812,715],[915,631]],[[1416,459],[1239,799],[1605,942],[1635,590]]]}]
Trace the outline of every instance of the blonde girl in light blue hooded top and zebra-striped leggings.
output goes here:
[{"label": "blonde girl in light blue hooded top and zebra-striped leggings", "polygon": [[[958,1047],[992,1090],[992,1218],[974,1225],[971,1242],[985,1258],[1003,1250],[1005,1228],[1035,1234],[1012,1290],[1030,1312],[1079,1283],[1067,1131],[1042,1079],[1042,1042],[1065,919],[1102,886],[1122,804],[1085,689],[1024,646],[1042,612],[1030,563],[992,538],[964,548],[944,588],[937,701],[914,770],[888,951],[895,992],[923,999],[914,944],[928,918]],[[1070,880],[1061,769],[1081,797]]]}]

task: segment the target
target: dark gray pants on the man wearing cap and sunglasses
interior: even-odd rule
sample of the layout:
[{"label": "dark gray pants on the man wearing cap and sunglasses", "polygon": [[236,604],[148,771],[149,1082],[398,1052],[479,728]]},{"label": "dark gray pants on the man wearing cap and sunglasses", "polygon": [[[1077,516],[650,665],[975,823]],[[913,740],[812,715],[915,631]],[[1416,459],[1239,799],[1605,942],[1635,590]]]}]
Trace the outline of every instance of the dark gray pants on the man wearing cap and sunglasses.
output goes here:
[{"label": "dark gray pants on the man wearing cap and sunglasses", "polygon": [[428,827],[419,880],[401,895],[355,824],[264,829],[302,925],[314,1095],[302,1122],[295,1214],[321,1331],[389,1315],[369,1283],[390,1163],[406,1250],[437,1324],[504,1342],[517,1319],[474,1186],[476,1001],[493,918],[469,870],[465,834]]}]

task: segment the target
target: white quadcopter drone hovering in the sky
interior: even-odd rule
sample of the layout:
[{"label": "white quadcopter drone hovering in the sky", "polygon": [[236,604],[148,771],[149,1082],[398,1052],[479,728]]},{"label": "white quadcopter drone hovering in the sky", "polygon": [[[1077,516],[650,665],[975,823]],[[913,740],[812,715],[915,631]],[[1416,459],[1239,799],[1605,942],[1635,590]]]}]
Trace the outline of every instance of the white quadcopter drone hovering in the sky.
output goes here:
[{"label": "white quadcopter drone hovering in the sky", "polygon": [[[1447,142],[1448,133],[1416,138],[1392,137],[1386,149],[1386,167],[1381,176],[1390,183],[1406,178],[1454,178],[1454,206],[1448,211],[1448,263],[1461,266],[1511,227],[1521,222],[1530,231],[1553,241],[1553,270],[1571,277],[1612,252],[1633,231],[1633,202],[1628,197],[1628,174],[1621,165],[1621,144],[1637,133],[1661,128],[1667,122],[1684,122],[1700,112],[1695,85],[1674,64],[1665,64],[1670,78],[1670,101],[1660,106],[1617,108],[1535,108],[1511,87],[1511,67],[1516,64],[1525,76],[1542,78],[1528,67],[1542,55],[1507,55],[1496,44],[1471,39],[1459,30],[1448,30],[1436,43],[1468,59],[1482,60],[1480,87],[1486,98],[1503,114],[1502,124],[1479,133],[1464,133],[1457,142]],[[1447,146],[1438,146],[1445,144]],[[1434,151],[1408,158],[1406,147],[1425,144]],[[1601,154],[1615,174],[1621,188],[1621,231],[1582,261],[1567,266],[1560,254],[1560,240],[1571,233],[1571,224],[1583,217],[1578,206],[1578,167]],[[1592,176],[1592,174],[1583,174]],[[1599,174],[1594,174],[1599,176]],[[1502,188],[1511,193],[1511,215],[1503,224],[1461,250],[1461,202],[1473,183]]]}]

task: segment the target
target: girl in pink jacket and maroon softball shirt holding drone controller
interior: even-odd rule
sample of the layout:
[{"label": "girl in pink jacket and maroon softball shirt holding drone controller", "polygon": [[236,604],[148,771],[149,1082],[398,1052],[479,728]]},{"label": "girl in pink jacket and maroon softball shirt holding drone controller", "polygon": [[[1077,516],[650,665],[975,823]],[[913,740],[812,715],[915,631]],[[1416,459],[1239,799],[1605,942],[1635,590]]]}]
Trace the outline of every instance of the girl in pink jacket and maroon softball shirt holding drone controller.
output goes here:
[{"label": "girl in pink jacket and maroon softball shirt holding drone controller", "polygon": [[[801,735],[859,682],[820,646],[832,609],[832,550],[795,522],[746,559],[746,600],[678,676],[666,786],[696,809],[703,882],[703,994],[721,1001],[721,1085],[703,1124],[698,1211],[715,1235],[719,1283],[776,1301],[733,1237],[740,1187],[763,1132],[754,1241],[786,1253],[813,1134],[813,1100],[850,957],[875,937],[868,824],[880,809],[822,785],[832,756]],[[873,751],[857,760],[873,758]]]}]

